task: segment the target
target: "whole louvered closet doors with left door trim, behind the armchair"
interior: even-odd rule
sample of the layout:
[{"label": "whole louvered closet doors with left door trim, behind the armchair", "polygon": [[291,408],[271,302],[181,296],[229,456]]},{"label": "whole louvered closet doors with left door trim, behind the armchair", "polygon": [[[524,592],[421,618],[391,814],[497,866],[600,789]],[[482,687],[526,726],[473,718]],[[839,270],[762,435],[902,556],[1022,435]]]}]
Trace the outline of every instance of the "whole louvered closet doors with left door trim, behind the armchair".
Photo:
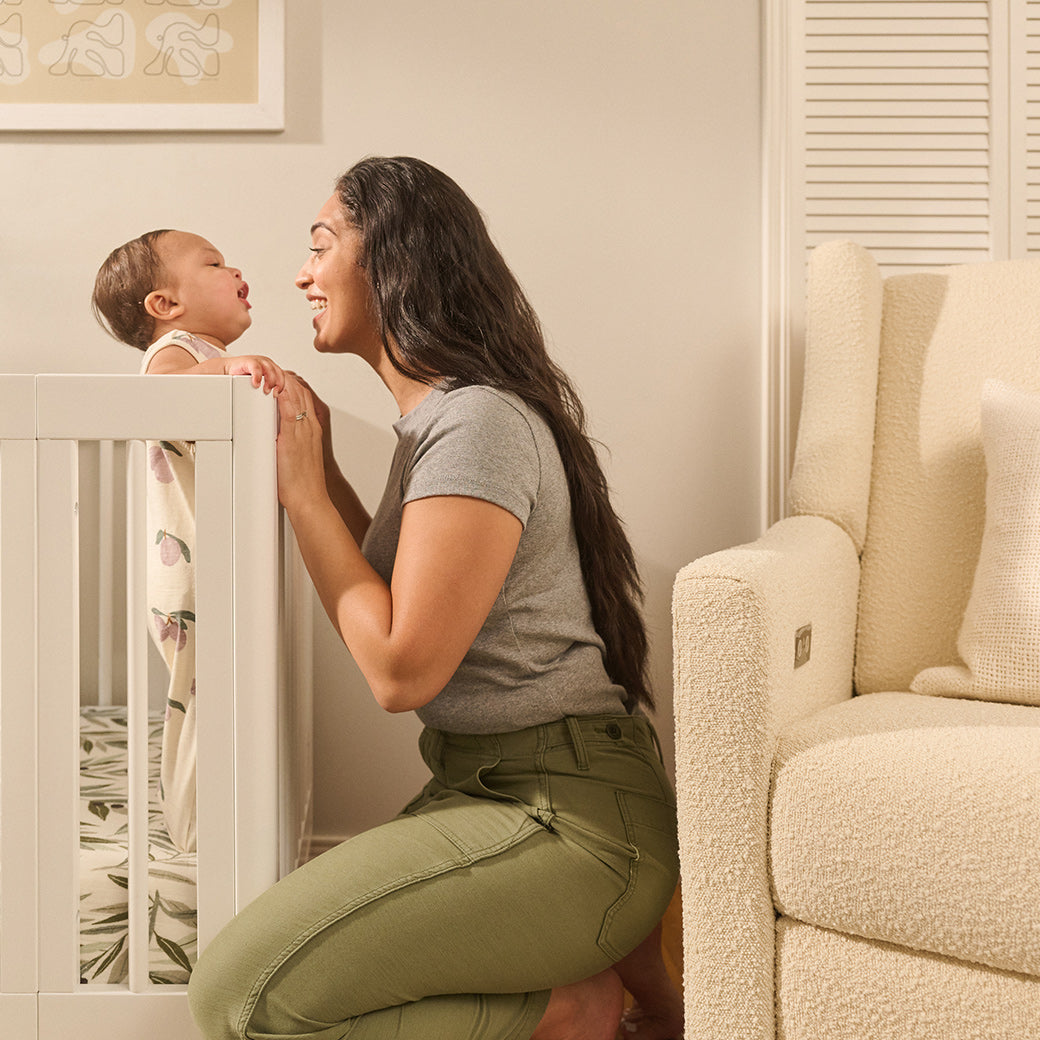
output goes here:
[{"label": "whole louvered closet doors with left door trim, behind the armchair", "polygon": [[883,274],[1040,257],[1040,0],[762,0],[763,501],[783,515],[808,252]]}]

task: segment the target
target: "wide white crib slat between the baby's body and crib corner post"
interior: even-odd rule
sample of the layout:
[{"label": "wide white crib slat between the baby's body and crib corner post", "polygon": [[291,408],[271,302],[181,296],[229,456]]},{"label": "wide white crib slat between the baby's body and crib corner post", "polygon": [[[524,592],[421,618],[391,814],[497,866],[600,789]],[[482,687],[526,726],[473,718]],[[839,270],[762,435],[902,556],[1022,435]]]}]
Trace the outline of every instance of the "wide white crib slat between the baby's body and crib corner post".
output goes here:
[{"label": "wide white crib slat between the baby's body and crib corner post", "polygon": [[[196,445],[199,950],[235,912],[231,444]],[[249,725],[249,721],[239,725]]]}]

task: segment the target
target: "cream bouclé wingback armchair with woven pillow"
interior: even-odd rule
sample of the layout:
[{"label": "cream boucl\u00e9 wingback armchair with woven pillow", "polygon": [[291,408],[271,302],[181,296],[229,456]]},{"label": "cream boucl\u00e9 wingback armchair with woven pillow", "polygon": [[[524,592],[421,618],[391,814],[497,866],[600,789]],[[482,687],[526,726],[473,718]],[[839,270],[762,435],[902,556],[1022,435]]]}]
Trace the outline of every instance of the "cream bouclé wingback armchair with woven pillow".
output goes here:
[{"label": "cream boucl\u00e9 wingback armchair with woven pillow", "polygon": [[675,586],[686,1040],[1040,1038],[1040,261],[826,243],[805,370]]}]

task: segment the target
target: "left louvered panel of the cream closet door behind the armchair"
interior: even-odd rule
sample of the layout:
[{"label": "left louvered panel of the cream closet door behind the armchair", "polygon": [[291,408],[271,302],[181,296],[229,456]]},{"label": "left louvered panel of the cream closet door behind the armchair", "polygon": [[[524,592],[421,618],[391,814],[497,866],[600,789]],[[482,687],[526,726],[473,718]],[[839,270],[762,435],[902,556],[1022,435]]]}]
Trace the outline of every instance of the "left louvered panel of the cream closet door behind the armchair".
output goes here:
[{"label": "left louvered panel of the cream closet door behind the armchair", "polygon": [[[832,238],[886,271],[1009,255],[1008,3],[796,5],[796,270]],[[1029,6],[1040,32],[1040,0]],[[1040,244],[1040,203],[1033,219]]]}]

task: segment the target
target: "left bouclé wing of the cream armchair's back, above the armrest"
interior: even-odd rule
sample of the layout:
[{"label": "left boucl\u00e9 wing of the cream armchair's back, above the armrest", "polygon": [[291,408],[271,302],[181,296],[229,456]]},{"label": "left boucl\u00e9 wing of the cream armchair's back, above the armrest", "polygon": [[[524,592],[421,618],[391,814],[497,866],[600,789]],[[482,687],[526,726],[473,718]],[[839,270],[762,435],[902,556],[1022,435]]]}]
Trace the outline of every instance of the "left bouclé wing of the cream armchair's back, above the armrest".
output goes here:
[{"label": "left boucl\u00e9 wing of the cream armchair's back, above the armrest", "polygon": [[[862,246],[835,241],[812,252],[809,279],[805,382],[787,512],[832,520],[860,551],[878,396],[881,275]],[[820,364],[824,352],[827,364]]]}]

